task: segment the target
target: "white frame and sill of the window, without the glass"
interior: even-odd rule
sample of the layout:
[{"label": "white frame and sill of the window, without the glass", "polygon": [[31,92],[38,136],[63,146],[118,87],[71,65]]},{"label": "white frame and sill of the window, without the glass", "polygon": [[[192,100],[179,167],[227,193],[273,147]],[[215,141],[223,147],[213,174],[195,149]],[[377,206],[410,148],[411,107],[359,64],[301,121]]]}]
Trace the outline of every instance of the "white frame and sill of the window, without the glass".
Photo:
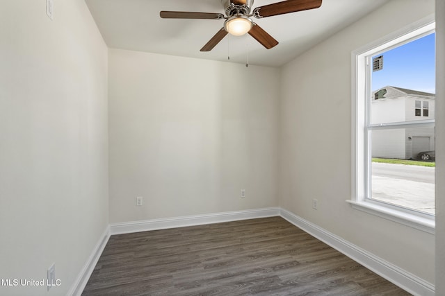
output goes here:
[{"label": "white frame and sill of the window, without the glass", "polygon": [[[391,46],[400,46],[404,42],[410,42],[419,35],[428,35],[434,31],[435,19],[434,15],[430,15],[351,53],[352,196],[350,200],[346,200],[354,209],[431,234],[435,233],[435,216],[366,198],[367,193],[370,191],[368,184],[369,178],[371,178],[371,168],[368,165],[369,158],[367,155],[369,151],[369,128],[366,127],[367,120],[369,120],[369,114],[366,114],[366,111],[369,112],[369,108],[366,108],[367,96],[369,96],[367,94],[371,94],[371,85],[369,85],[370,79],[367,78],[366,74],[367,67],[369,67],[366,65],[366,62],[368,62],[368,65],[372,62],[369,59],[366,61],[366,58],[370,55],[387,51]],[[430,124],[434,125],[434,121],[431,121]],[[409,125],[414,127],[415,124],[409,123]],[[389,124],[382,128],[391,128],[391,126]]]}]

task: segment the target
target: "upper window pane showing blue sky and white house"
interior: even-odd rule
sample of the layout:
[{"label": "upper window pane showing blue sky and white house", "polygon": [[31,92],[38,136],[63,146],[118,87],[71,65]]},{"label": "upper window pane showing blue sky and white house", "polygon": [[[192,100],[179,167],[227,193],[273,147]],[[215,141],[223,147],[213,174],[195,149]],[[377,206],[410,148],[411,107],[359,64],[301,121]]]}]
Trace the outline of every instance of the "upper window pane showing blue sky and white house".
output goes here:
[{"label": "upper window pane showing blue sky and white house", "polygon": [[423,108],[435,106],[435,33],[371,55],[382,56],[371,71],[371,124],[424,120]]}]

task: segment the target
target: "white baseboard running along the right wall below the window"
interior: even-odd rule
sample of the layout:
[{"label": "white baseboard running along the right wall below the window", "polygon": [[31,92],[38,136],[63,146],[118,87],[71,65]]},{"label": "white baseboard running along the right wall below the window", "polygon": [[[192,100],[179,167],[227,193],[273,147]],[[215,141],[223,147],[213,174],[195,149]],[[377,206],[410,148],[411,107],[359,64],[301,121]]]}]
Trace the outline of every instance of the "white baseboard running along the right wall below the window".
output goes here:
[{"label": "white baseboard running along the right wall below the window", "polygon": [[285,209],[280,210],[280,216],[288,220],[293,225],[296,225],[300,229],[304,230],[308,234],[318,238],[323,243],[330,245],[337,251],[345,254],[350,259],[364,265],[369,270],[372,270],[376,274],[380,275],[384,279],[391,281],[391,283],[403,288],[408,293],[421,296],[433,296],[435,295],[435,286],[433,284],[424,281],[423,279],[412,275],[410,272],[398,268],[396,265],[391,264],[374,254],[363,250],[343,238],[336,236],[328,232],[327,230],[310,223],[309,221],[296,216],[290,211]]}]

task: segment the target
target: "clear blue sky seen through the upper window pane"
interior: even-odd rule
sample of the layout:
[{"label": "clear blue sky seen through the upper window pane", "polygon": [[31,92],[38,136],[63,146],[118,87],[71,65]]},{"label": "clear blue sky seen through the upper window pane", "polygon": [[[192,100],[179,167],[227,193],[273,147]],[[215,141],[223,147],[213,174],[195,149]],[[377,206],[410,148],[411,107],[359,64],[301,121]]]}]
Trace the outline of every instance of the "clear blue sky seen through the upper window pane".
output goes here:
[{"label": "clear blue sky seen through the upper window pane", "polygon": [[373,91],[391,85],[435,94],[435,33],[382,55],[383,69],[372,73]]}]

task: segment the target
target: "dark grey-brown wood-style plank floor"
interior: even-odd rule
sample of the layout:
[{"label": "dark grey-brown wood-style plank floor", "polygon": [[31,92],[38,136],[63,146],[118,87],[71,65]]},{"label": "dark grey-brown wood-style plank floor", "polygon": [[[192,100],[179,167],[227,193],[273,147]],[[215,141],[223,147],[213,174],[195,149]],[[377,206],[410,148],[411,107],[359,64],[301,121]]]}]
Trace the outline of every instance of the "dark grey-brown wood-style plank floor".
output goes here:
[{"label": "dark grey-brown wood-style plank floor", "polygon": [[82,295],[409,295],[283,218],[111,236]]}]

